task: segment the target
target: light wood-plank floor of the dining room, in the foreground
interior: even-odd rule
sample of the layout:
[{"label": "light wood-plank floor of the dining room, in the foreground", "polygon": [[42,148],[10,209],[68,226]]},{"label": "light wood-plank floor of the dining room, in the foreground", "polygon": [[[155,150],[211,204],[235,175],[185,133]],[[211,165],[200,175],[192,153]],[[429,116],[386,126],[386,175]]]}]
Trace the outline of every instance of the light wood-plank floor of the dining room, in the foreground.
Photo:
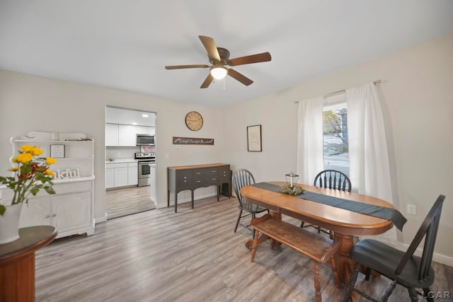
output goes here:
[{"label": "light wood-plank floor of the dining room, in the foreground", "polygon": [[[251,231],[233,232],[236,203],[202,199],[195,209],[154,209],[99,223],[93,236],[56,240],[36,252],[36,301],[314,301],[307,257],[263,243],[250,262],[244,243]],[[453,268],[433,267],[431,289],[452,291]],[[331,268],[321,265],[320,277],[323,301],[340,301],[344,289]],[[389,281],[360,276],[357,283],[375,294]],[[408,301],[407,290],[396,286],[389,301]]]}]

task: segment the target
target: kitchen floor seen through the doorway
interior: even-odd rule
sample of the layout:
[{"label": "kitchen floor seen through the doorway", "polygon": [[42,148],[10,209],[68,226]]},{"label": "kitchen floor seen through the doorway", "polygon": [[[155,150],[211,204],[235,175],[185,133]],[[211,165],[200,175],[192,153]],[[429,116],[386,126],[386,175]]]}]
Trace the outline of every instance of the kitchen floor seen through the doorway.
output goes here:
[{"label": "kitchen floor seen through the doorway", "polygon": [[107,219],[156,209],[151,202],[151,187],[127,187],[105,192],[105,212]]}]

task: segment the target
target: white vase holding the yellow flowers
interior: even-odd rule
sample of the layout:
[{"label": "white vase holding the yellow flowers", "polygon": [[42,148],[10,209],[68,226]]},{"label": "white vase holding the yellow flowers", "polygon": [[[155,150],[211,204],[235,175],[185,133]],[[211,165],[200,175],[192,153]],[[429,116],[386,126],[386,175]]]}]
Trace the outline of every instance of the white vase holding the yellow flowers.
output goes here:
[{"label": "white vase holding the yellow flowers", "polygon": [[21,210],[22,203],[6,206],[5,213],[0,216],[0,244],[10,243],[19,238]]}]

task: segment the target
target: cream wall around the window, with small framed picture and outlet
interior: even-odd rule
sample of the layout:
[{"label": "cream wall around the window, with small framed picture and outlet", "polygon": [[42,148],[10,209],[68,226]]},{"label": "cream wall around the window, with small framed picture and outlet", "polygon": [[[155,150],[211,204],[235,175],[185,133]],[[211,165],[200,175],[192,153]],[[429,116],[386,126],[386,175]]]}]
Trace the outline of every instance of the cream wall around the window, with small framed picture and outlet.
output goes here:
[{"label": "cream wall around the window, with small framed picture and outlet", "polygon": [[[435,251],[437,260],[453,266],[453,33],[226,108],[226,116],[234,116],[226,120],[226,161],[248,168],[257,181],[285,180],[297,161],[294,101],[376,80],[394,205],[408,219],[398,242],[407,247],[437,196],[445,194]],[[253,124],[263,127],[262,152],[247,151],[246,127]],[[407,214],[407,204],[415,204],[415,216]]]}]

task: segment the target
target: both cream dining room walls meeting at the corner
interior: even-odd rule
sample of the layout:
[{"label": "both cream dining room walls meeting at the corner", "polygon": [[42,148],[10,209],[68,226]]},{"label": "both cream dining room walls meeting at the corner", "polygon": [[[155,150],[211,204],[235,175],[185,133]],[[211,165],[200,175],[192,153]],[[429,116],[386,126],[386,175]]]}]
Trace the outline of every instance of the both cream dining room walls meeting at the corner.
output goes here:
[{"label": "both cream dining room walls meeting at the corner", "polygon": [[[104,215],[105,105],[157,112],[158,202],[166,206],[166,167],[207,162],[248,168],[258,181],[285,180],[295,170],[297,105],[301,100],[380,79],[394,204],[408,218],[401,243],[409,243],[438,194],[447,196],[436,252],[453,265],[453,34],[373,59],[286,91],[271,93],[224,110],[173,102],[148,95],[55,81],[0,71],[0,173],[9,168],[8,138],[31,130],[86,132],[96,140],[96,217]],[[199,132],[185,127],[190,110],[203,115]],[[263,152],[248,152],[246,126],[263,127]],[[211,137],[214,146],[171,144],[173,136]],[[168,153],[169,159],[165,158]],[[1,173],[4,175],[4,173]],[[210,192],[200,189],[199,196]],[[189,192],[180,193],[188,198]],[[185,194],[185,195],[183,195]],[[171,199],[173,200],[173,198]],[[418,214],[406,214],[406,204]]]}]

